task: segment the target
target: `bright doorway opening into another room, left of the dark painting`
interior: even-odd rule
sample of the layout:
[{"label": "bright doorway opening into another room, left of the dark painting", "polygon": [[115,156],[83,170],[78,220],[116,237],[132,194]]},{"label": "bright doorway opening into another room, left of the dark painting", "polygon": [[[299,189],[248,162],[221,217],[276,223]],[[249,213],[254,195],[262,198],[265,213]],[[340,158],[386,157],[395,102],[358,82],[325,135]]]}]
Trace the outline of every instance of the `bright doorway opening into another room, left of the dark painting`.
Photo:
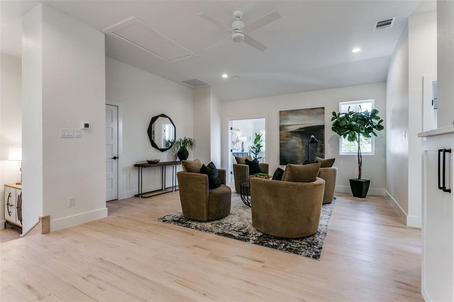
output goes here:
[{"label": "bright doorway opening into another room, left of the dark painting", "polygon": [[[261,148],[256,153],[254,140],[260,136]],[[257,158],[259,162],[266,162],[266,119],[239,119],[229,121],[229,182],[233,182],[233,164],[235,156],[250,155],[252,159]]]}]

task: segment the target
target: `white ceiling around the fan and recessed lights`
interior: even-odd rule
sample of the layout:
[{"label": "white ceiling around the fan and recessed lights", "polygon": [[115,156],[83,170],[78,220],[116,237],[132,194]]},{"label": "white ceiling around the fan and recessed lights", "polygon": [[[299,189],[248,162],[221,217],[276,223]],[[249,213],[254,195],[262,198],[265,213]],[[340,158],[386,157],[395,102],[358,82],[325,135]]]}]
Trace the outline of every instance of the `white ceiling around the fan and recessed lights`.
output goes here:
[{"label": "white ceiling around the fan and recessed lights", "polygon": [[[385,81],[390,56],[406,24],[434,2],[405,1],[42,1],[104,30],[135,16],[198,56],[175,63],[106,35],[106,55],[182,84],[200,79],[223,101]],[[39,1],[1,3],[2,52],[20,56],[21,16]],[[419,8],[418,8],[419,6]],[[260,52],[228,42],[205,50],[226,33],[198,16],[205,12],[231,24],[241,9],[245,24],[278,10],[281,19],[250,33],[269,48]],[[374,22],[397,17],[390,29]],[[359,53],[350,50],[361,47]],[[221,73],[231,77],[222,79]],[[239,80],[233,80],[239,75]],[[184,84],[183,84],[184,85]]]}]

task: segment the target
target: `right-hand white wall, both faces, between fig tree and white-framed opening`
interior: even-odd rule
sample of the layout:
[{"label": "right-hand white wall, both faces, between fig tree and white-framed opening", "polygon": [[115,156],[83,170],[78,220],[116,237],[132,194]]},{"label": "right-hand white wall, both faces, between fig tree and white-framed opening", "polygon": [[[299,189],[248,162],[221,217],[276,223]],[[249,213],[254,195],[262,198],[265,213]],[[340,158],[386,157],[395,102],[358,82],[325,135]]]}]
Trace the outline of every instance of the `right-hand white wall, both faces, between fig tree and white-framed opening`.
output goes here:
[{"label": "right-hand white wall, both faces, between fig tree and white-framed opening", "polygon": [[435,13],[409,17],[386,81],[386,191],[407,225],[415,227],[421,226],[423,77],[437,73],[436,20]]}]

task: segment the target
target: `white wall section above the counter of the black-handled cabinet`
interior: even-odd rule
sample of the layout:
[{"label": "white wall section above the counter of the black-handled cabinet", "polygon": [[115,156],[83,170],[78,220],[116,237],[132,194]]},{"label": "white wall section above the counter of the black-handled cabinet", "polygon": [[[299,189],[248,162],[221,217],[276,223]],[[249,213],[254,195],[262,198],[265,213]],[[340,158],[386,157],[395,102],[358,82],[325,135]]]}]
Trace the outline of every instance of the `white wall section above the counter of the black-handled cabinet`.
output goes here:
[{"label": "white wall section above the counter of the black-handled cabinet", "polygon": [[438,128],[454,123],[454,1],[437,1]]}]

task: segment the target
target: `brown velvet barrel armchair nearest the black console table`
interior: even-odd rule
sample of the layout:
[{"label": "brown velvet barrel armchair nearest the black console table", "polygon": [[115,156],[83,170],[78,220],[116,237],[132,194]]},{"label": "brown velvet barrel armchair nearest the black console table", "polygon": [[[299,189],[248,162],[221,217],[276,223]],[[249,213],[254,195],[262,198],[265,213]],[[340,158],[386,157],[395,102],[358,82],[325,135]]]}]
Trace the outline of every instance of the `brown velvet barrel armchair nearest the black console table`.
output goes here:
[{"label": "brown velvet barrel armchair nearest the black console table", "polygon": [[178,187],[183,216],[195,220],[220,219],[230,214],[232,191],[226,186],[226,172],[218,169],[222,185],[208,189],[208,176],[199,173],[178,172]]}]

